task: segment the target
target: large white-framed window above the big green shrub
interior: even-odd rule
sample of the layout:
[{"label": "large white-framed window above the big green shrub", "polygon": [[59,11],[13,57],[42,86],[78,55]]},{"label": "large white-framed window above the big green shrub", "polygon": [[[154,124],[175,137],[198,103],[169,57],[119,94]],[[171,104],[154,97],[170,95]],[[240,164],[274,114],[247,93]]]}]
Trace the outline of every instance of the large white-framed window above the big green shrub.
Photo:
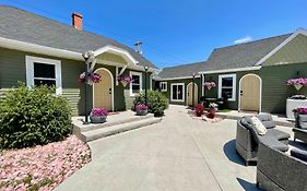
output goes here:
[{"label": "large white-framed window above the big green shrub", "polygon": [[48,85],[56,87],[56,94],[62,93],[61,61],[26,56],[26,85]]}]

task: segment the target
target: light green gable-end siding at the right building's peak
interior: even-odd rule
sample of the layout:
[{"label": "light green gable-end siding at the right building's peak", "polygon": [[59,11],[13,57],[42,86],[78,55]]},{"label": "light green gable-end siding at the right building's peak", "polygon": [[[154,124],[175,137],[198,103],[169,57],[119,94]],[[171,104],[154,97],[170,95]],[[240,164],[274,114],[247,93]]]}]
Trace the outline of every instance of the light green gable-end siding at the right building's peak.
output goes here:
[{"label": "light green gable-end siding at the right building's peak", "polygon": [[271,56],[262,64],[273,65],[273,64],[285,64],[285,63],[299,63],[307,61],[307,37],[304,35],[298,35],[282,49]]}]

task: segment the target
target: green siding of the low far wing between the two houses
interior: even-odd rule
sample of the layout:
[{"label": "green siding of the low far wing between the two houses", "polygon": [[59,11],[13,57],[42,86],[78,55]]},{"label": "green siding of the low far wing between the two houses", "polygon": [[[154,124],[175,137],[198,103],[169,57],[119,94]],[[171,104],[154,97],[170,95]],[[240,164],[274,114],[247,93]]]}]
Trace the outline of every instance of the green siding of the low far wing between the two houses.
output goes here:
[{"label": "green siding of the low far wing between the two houses", "polygon": [[[168,80],[168,81],[160,81],[160,82],[167,82],[167,92],[163,92],[163,94],[169,99],[169,104],[176,104],[176,105],[187,105],[187,85],[191,83],[192,79],[180,79],[180,80]],[[160,83],[156,82],[156,83]],[[196,84],[198,85],[198,100],[201,97],[202,94],[202,86],[201,86],[201,77],[196,77]],[[185,102],[172,102],[170,100],[170,84],[175,83],[185,83]],[[197,103],[196,103],[197,104]]]}]

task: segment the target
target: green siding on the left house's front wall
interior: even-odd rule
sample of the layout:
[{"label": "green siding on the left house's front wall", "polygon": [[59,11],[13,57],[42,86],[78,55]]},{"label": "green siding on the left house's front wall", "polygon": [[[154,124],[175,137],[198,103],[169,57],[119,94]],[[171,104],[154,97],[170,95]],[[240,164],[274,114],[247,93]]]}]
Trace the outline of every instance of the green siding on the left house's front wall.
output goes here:
[{"label": "green siding on the left house's front wall", "polygon": [[[61,59],[55,57],[48,57],[43,55],[36,55],[31,52],[23,52],[17,50],[10,50],[0,48],[0,97],[3,97],[4,93],[17,85],[17,81],[25,82],[26,81],[26,71],[25,71],[25,56],[35,56],[42,58],[51,58],[61,60],[61,71],[62,71],[62,96],[68,98],[72,112],[74,116],[84,115],[84,85],[78,82],[79,75],[84,70],[84,62]],[[118,61],[118,56],[114,59],[110,57],[110,53],[107,55],[110,61]],[[126,110],[127,107],[126,102],[132,102],[133,97],[125,97],[123,92],[129,91],[129,85],[123,87],[120,83],[116,85],[116,68],[104,64],[96,64],[97,68],[106,68],[108,69],[114,76],[114,104],[115,110]],[[125,74],[129,74],[130,70],[126,70]],[[151,73],[147,74],[150,76]],[[145,86],[145,74],[142,74],[143,81],[143,89]],[[147,77],[147,84],[149,84]],[[147,86],[149,87],[149,86]],[[87,110],[92,109],[93,103],[93,92],[92,87],[88,86],[88,105]]]}]

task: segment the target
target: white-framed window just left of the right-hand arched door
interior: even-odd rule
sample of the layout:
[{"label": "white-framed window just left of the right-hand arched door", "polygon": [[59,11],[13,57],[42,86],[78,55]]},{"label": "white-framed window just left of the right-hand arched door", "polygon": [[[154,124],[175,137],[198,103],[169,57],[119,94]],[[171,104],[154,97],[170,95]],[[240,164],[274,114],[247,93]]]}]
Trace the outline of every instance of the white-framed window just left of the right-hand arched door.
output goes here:
[{"label": "white-framed window just left of the right-hand arched door", "polygon": [[219,97],[236,100],[236,74],[219,75]]}]

